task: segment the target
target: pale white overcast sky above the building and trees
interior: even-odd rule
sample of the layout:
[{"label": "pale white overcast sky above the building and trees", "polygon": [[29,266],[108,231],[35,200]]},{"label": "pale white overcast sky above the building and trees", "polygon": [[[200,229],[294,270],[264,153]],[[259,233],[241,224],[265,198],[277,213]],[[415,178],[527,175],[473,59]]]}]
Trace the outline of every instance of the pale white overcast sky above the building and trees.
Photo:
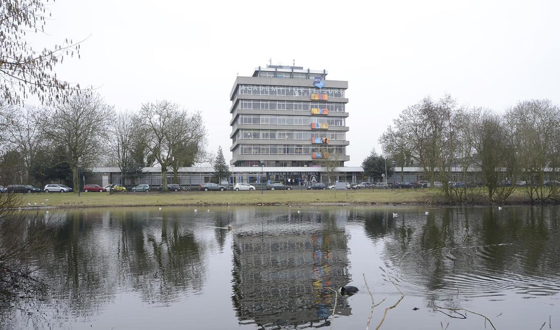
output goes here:
[{"label": "pale white overcast sky above the building and trees", "polygon": [[[168,99],[201,111],[208,148],[231,146],[236,75],[273,64],[347,80],[347,166],[359,166],[405,107],[450,93],[504,111],[560,103],[558,1],[57,0],[49,36],[85,39],[58,77],[93,85],[116,109]],[[231,159],[231,152],[225,154]]]}]

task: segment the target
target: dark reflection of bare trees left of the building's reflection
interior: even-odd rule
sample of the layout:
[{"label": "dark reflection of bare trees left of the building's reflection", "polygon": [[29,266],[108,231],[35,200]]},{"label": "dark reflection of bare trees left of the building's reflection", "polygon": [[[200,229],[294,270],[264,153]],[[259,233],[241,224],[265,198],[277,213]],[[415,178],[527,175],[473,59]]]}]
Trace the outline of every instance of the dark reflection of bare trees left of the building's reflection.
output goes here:
[{"label": "dark reflection of bare trees left of the building's reflection", "polygon": [[64,217],[58,241],[35,256],[45,261],[45,300],[57,318],[102,313],[123,287],[164,304],[202,288],[202,249],[179,213],[81,210]]}]

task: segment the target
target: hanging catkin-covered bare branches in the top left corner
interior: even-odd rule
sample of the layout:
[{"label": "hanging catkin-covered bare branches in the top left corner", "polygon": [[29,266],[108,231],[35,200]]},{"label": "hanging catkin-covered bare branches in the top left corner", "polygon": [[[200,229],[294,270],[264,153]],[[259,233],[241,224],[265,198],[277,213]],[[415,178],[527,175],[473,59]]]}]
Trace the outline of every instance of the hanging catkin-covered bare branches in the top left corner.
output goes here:
[{"label": "hanging catkin-covered bare branches in the top left corner", "polygon": [[49,17],[43,0],[0,1],[0,89],[8,104],[21,104],[30,94],[54,104],[80,90],[80,85],[58,79],[53,71],[64,56],[80,58],[79,43],[66,39],[36,51],[27,42],[28,33],[44,33]]}]

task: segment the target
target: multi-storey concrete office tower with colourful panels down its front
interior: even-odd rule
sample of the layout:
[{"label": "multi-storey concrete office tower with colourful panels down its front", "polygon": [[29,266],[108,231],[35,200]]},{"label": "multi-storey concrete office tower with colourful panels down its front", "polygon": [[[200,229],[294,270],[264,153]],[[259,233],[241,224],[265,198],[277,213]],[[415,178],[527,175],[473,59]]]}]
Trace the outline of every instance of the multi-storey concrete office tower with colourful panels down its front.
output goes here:
[{"label": "multi-storey concrete office tower with colourful panels down its front", "polygon": [[344,166],[347,81],[325,70],[258,67],[238,76],[231,90],[231,164],[236,167],[312,167],[321,160]]}]

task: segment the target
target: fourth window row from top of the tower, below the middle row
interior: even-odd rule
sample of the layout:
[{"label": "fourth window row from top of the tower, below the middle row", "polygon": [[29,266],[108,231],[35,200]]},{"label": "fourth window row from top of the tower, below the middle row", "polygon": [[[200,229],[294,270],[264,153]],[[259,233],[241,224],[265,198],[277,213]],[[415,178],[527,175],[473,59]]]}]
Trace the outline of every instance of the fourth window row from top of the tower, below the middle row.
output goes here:
[{"label": "fourth window row from top of the tower, below the middle row", "polygon": [[346,140],[345,132],[326,131],[239,130],[236,135],[242,140],[311,140],[312,138]]}]

